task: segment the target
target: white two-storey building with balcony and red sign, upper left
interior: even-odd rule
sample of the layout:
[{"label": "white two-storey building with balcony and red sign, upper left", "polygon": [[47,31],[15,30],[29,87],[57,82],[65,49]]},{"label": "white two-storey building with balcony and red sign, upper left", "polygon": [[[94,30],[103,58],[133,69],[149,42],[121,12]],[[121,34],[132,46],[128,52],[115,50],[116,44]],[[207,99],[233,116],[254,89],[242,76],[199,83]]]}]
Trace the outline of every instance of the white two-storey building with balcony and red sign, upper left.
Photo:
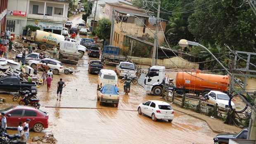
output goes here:
[{"label": "white two-storey building with balcony and red sign, upper left", "polygon": [[16,35],[21,35],[26,25],[60,34],[68,8],[68,0],[8,0],[6,25]]}]

